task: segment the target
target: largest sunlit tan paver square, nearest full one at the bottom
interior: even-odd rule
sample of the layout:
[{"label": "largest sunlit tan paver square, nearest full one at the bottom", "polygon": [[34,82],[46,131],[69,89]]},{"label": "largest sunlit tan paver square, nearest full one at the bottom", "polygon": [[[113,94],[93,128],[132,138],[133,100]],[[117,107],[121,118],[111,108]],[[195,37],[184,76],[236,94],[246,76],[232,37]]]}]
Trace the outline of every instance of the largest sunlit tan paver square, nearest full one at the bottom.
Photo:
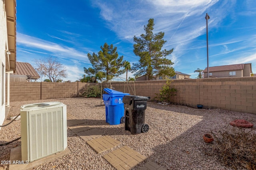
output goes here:
[{"label": "largest sunlit tan paver square, nearest full one at the bottom", "polygon": [[117,170],[130,170],[146,159],[145,156],[130,149],[128,146],[113,150],[102,157]]}]

